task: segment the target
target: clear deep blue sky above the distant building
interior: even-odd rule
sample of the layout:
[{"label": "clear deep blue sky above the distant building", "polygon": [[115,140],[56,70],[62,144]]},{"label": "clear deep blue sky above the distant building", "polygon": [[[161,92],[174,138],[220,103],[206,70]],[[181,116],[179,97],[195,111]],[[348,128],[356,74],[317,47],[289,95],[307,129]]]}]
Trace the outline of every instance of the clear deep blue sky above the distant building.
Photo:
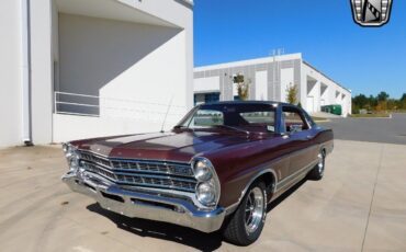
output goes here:
[{"label": "clear deep blue sky above the distant building", "polygon": [[406,1],[390,23],[361,27],[350,0],[195,0],[194,66],[302,53],[328,77],[360,93],[406,93]]}]

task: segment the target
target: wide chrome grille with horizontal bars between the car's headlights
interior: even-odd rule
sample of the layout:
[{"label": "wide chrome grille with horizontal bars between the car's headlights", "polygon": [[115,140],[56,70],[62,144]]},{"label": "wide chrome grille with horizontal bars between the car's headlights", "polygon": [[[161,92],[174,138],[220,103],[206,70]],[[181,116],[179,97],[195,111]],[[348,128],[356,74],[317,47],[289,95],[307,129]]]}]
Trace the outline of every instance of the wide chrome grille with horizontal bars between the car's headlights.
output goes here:
[{"label": "wide chrome grille with horizontal bars between the car's headlights", "polygon": [[101,175],[121,185],[187,192],[194,192],[196,185],[193,171],[190,164],[187,163],[110,159],[87,151],[80,152],[80,160],[86,171]]}]

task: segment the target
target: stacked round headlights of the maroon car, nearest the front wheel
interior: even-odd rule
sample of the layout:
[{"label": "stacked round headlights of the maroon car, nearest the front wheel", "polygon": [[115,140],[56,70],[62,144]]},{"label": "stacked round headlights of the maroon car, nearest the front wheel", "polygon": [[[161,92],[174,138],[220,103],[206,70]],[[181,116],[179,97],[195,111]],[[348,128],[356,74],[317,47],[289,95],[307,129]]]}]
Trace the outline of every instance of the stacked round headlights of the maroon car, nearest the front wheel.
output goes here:
[{"label": "stacked round headlights of the maroon car, nearest the front wheel", "polygon": [[213,207],[219,198],[219,182],[213,164],[208,159],[196,158],[193,161],[193,173],[198,180],[196,198],[205,207]]}]

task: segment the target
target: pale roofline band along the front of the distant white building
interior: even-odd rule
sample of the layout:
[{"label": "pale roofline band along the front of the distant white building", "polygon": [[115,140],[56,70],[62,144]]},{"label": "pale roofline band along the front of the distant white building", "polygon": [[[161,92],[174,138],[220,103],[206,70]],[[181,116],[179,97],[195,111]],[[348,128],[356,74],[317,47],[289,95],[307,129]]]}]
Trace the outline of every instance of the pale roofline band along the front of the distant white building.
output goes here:
[{"label": "pale roofline band along the front of the distant white building", "polygon": [[287,55],[277,55],[277,56],[269,56],[269,57],[262,57],[262,58],[215,64],[215,65],[195,67],[193,71],[196,72],[196,71],[206,71],[206,70],[217,70],[217,69],[230,68],[230,67],[243,67],[243,66],[257,65],[257,64],[267,64],[267,62],[272,62],[274,59],[279,61],[302,59],[302,54],[297,53],[297,54],[287,54]]}]

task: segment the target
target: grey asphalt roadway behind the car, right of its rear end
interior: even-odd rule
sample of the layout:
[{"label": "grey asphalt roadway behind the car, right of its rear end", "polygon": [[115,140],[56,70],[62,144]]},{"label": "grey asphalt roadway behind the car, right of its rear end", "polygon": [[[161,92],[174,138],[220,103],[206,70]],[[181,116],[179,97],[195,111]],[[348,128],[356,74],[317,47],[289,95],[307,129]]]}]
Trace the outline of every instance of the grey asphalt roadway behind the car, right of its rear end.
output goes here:
[{"label": "grey asphalt roadway behind the car, right of its rear end", "polygon": [[336,139],[406,145],[406,114],[393,114],[392,118],[338,118],[319,124],[332,128]]}]

